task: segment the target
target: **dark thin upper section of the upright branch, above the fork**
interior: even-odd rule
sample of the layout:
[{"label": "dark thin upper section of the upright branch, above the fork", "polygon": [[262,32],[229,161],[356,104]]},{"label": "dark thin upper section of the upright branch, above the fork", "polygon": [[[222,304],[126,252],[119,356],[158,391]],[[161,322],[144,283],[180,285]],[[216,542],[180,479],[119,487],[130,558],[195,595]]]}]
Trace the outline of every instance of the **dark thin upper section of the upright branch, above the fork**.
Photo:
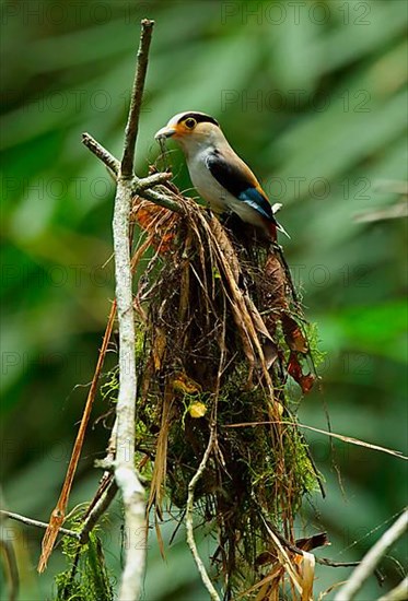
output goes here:
[{"label": "dark thin upper section of the upright branch, above the fork", "polygon": [[130,178],[133,175],[133,155],[136,139],[139,129],[139,116],[142,105],[145,73],[148,70],[149,48],[152,39],[154,21],[143,19],[135,73],[133,89],[131,91],[128,122],[125,131],[124,156],[121,160],[121,176]]}]

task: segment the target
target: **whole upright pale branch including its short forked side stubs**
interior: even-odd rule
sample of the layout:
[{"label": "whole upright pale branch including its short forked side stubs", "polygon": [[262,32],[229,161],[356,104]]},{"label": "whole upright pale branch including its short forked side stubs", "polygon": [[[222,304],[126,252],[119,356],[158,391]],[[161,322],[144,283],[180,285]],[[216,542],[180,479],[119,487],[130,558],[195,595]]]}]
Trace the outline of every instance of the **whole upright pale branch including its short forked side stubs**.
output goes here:
[{"label": "whole upright pale branch including its short forked side stubs", "polygon": [[[132,198],[143,193],[148,200],[166,209],[180,212],[179,205],[160,192],[148,190],[152,186],[164,184],[171,174],[154,174],[143,179],[133,175],[133,155],[139,127],[140,107],[143,96],[144,80],[148,67],[149,47],[154,22],[143,20],[138,50],[128,122],[126,126],[123,160],[119,163],[102,144],[89,133],[82,134],[84,145],[97,156],[116,176],[117,189],[113,221],[116,302],[119,325],[119,393],[116,408],[115,440],[109,447],[115,448],[115,479],[123,493],[125,522],[129,546],[123,574],[119,600],[130,601],[140,593],[144,570],[144,549],[135,544],[133,538],[144,533],[144,490],[133,466],[135,449],[135,399],[137,393],[135,364],[135,323],[131,293],[131,262],[129,249],[129,215]],[[115,495],[115,486],[109,487],[96,503],[81,535],[86,539],[90,530],[106,509]]]}]

